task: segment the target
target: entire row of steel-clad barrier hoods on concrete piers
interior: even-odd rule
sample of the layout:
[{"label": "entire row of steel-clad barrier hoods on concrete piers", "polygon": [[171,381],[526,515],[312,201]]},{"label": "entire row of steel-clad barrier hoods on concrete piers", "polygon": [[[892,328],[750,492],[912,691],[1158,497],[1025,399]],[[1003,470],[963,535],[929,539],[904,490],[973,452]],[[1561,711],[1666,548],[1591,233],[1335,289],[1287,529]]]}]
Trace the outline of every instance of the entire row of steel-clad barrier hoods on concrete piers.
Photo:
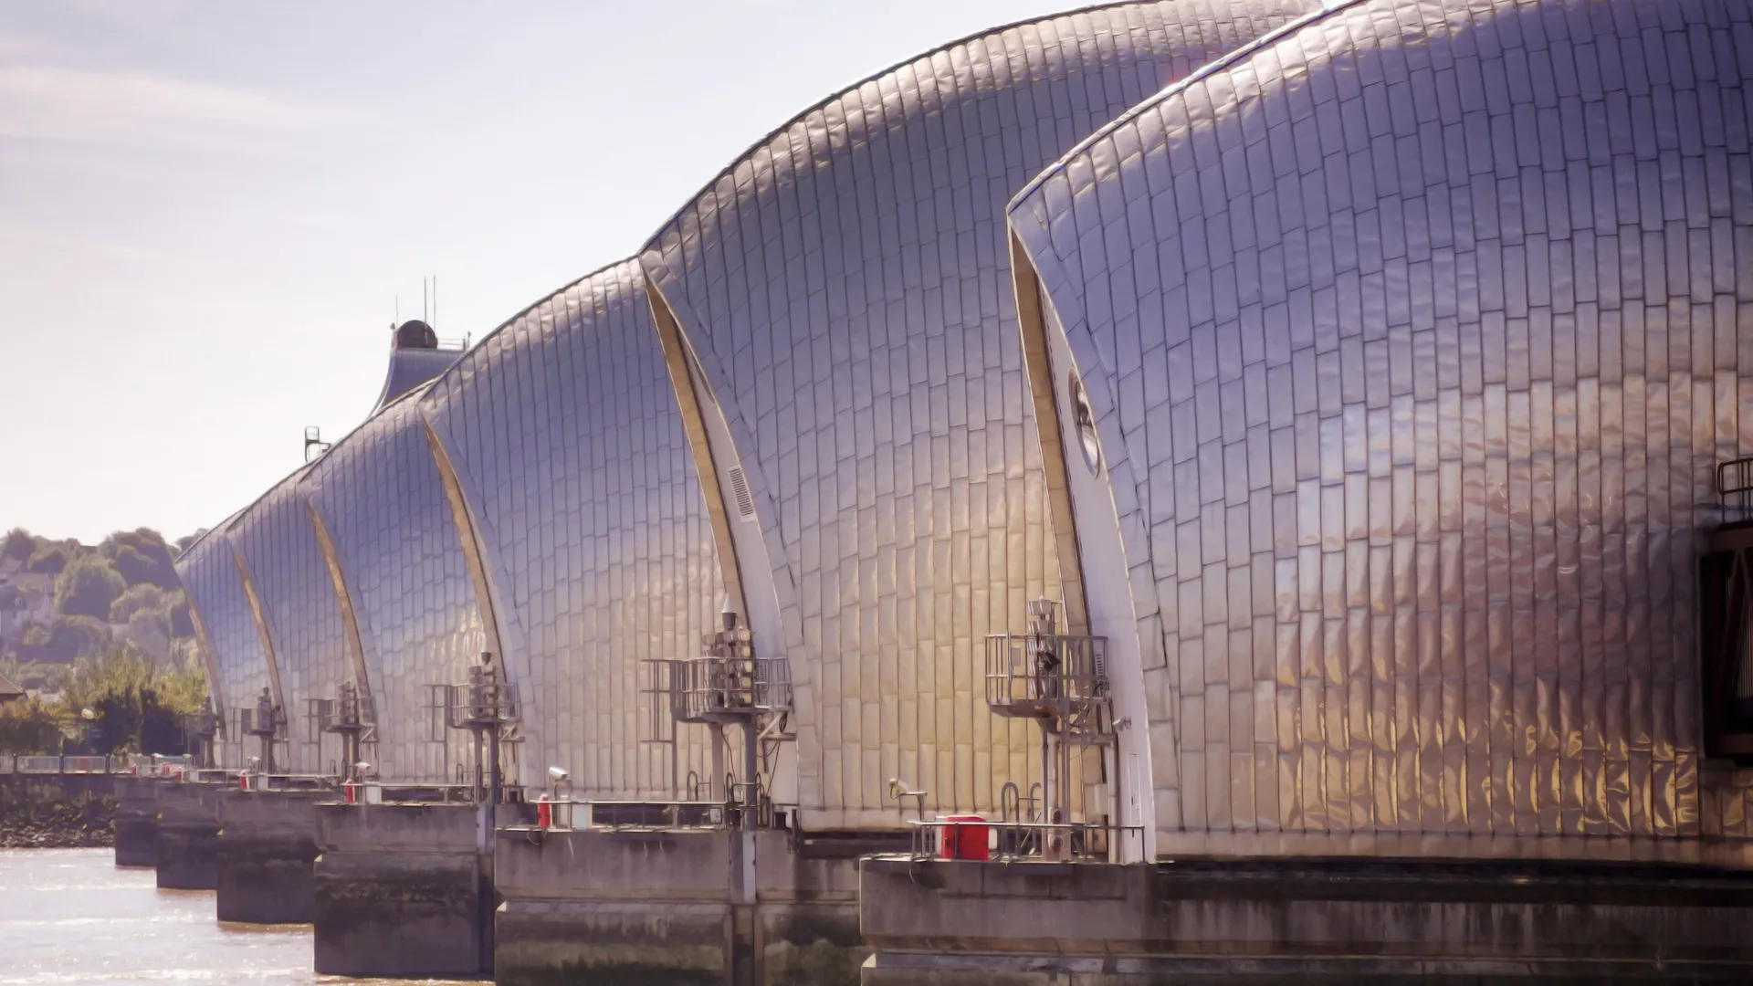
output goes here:
[{"label": "entire row of steel-clad barrier hoods on concrete piers", "polygon": [[1753,7],[882,70],[177,560],[116,860],[323,974],[1753,979]]}]

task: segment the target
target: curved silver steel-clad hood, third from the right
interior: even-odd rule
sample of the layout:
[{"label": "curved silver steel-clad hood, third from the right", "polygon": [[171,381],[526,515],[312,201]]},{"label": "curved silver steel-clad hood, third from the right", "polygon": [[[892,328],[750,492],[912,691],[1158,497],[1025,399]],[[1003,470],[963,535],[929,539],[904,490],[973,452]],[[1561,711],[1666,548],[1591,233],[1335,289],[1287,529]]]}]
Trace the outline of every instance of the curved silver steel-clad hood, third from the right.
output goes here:
[{"label": "curved silver steel-clad hood, third from the right", "polygon": [[706,730],[677,733],[642,661],[696,656],[724,586],[638,265],[529,307],[422,404],[521,640],[526,781],[561,765],[578,795],[687,795],[712,774]]}]

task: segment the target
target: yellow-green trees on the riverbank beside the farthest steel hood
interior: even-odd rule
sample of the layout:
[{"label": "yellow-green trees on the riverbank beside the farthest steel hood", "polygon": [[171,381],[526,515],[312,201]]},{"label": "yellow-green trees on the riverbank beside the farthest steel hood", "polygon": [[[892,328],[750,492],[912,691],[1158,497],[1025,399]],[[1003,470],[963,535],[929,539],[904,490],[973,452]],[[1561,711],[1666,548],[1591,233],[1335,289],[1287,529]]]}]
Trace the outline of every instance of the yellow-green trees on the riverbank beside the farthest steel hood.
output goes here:
[{"label": "yellow-green trees on the riverbank beside the farthest steel hood", "polygon": [[70,716],[91,709],[88,739],[96,753],[184,753],[182,716],[205,698],[200,665],[167,670],[135,647],[79,661],[61,693]]}]

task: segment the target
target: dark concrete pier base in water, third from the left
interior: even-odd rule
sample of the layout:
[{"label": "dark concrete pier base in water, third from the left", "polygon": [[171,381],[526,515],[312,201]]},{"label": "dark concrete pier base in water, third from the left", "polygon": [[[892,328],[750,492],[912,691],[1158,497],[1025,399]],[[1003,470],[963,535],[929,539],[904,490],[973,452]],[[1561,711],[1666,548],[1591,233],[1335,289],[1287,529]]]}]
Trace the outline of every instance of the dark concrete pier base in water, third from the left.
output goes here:
[{"label": "dark concrete pier base in water, third from the left", "polygon": [[317,858],[317,802],[333,791],[242,791],[219,797],[219,919],[309,925]]}]

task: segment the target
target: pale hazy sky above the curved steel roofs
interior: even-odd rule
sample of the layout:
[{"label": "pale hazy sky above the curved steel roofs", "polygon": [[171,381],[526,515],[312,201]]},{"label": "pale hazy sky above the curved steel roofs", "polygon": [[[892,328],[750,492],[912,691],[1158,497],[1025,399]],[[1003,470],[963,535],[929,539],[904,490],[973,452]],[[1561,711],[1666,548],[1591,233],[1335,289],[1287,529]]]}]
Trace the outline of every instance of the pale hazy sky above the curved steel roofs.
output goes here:
[{"label": "pale hazy sky above the curved steel roofs", "polygon": [[212,526],[799,111],[1076,0],[0,0],[0,532]]}]

